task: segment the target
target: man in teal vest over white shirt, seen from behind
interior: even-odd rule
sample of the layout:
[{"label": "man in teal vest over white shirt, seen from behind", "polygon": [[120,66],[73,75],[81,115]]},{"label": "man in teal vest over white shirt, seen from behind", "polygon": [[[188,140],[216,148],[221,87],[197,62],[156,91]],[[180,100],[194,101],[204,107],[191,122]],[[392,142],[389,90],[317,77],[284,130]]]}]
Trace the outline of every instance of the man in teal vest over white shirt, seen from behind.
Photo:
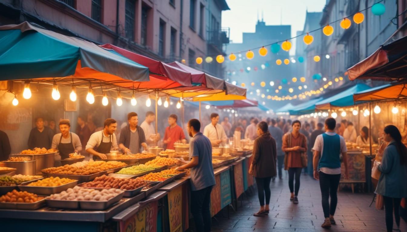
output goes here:
[{"label": "man in teal vest over white shirt, seen from behind", "polygon": [[[321,225],[323,228],[330,228],[331,224],[336,224],[333,215],[338,203],[337,191],[341,179],[340,154],[344,160],[344,178],[348,179],[348,149],[344,137],[334,132],[335,126],[335,119],[326,119],[326,132],[317,136],[313,147],[314,178],[319,180],[321,187],[322,209],[325,217],[325,221]],[[329,196],[331,197],[330,204]]]}]

